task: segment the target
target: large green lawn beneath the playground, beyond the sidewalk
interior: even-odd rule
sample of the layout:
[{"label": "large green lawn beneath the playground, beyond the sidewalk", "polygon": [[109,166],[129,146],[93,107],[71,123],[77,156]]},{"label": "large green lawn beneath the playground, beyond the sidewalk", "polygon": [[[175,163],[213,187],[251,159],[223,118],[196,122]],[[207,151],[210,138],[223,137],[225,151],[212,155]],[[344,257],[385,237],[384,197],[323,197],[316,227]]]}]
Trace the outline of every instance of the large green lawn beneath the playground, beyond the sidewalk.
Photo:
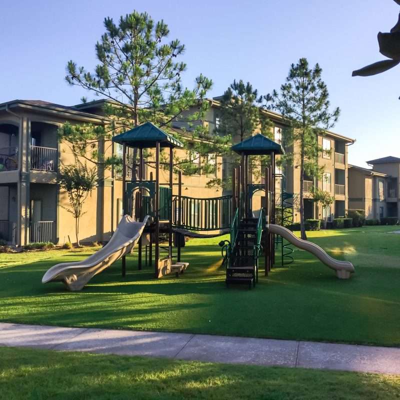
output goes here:
[{"label": "large green lawn beneath the playground, beyond the sidewalk", "polygon": [[149,267],[137,271],[133,254],[125,278],[119,261],[81,292],[41,284],[51,265],[92,251],[59,250],[50,259],[0,268],[0,320],[398,346],[400,235],[386,233],[395,229],[308,232],[332,256],[353,262],[355,274],[339,280],[296,249],[293,264],[268,277],[261,271],[253,290],[225,287],[219,238],[190,240],[182,251],[190,266],[179,278],[153,279]]}]

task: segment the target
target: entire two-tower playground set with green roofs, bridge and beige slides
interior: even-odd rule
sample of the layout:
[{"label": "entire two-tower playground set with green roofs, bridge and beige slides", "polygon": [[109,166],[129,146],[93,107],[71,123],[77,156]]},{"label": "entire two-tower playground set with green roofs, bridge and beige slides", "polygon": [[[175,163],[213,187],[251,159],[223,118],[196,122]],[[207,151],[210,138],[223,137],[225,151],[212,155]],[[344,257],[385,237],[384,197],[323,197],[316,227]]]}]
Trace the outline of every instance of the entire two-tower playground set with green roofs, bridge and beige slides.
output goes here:
[{"label": "entire two-tower playground set with green roofs, bridge and beige slides", "polygon": [[[287,252],[287,244],[292,243],[316,255],[323,263],[334,269],[339,278],[348,278],[354,271],[350,262],[331,258],[317,245],[300,240],[290,230],[275,224],[275,178],[282,176],[275,174],[275,155],[282,154],[283,149],[280,144],[269,138],[258,133],[232,146],[232,150],[240,155],[240,166],[233,168],[232,171],[232,194],[214,198],[182,196],[180,172],[177,183],[173,182],[173,149],[183,145],[152,123],[146,122],[118,134],[113,137],[113,141],[123,146],[122,203],[125,216],[110,241],[101,250],[84,261],[51,267],[43,276],[43,283],[61,280],[67,288],[80,290],[93,275],[119,258],[122,258],[122,276],[125,276],[125,256],[136,242],[138,269],[142,268],[144,245],[146,250],[147,247],[149,250],[149,264],[154,263],[156,278],[172,272],[179,274],[188,265],[187,262],[180,260],[185,236],[204,238],[226,233],[230,233],[230,240],[220,242],[226,264],[226,284],[245,283],[249,287],[254,286],[258,280],[258,259],[262,252],[265,257],[265,275],[268,275],[275,262],[277,240],[281,240],[282,243],[282,265],[285,263],[285,257],[286,262],[293,260],[289,255],[291,251]],[[131,181],[126,181],[127,147],[138,149],[138,165],[132,164]],[[165,168],[169,172],[167,182],[160,182],[160,151],[163,148],[169,151],[168,168]],[[144,149],[155,149],[155,179],[152,173],[148,178],[145,176]],[[264,170],[262,184],[251,182],[248,168],[251,155],[270,157],[270,165]],[[177,184],[177,194],[173,194],[174,184]],[[252,200],[257,190],[264,191],[265,200],[264,206],[259,209],[259,214],[254,215]],[[282,221],[285,218],[285,210],[291,207],[289,201],[291,197],[292,194],[281,189]],[[283,240],[288,243],[284,243]],[[175,263],[172,261],[173,245],[177,249]],[[152,259],[153,247],[154,259]]]}]

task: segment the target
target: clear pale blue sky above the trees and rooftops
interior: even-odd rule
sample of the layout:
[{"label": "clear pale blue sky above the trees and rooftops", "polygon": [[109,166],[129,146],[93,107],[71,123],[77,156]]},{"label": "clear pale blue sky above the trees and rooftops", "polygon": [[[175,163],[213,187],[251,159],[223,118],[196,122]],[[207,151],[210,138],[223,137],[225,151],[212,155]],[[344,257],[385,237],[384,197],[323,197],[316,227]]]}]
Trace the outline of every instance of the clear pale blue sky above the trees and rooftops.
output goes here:
[{"label": "clear pale blue sky above the trees and rooftops", "polygon": [[353,69],[384,58],[376,34],[396,22],[400,7],[392,0],[8,1],[0,13],[0,102],[79,102],[85,93],[64,82],[66,62],[91,69],[103,18],[134,8],[164,19],[170,38],[186,46],[185,83],[205,74],[214,82],[210,96],[233,78],[267,93],[299,57],[319,62],[331,104],[341,108],[333,130],[357,140],[349,161],[365,166],[368,159],[400,156],[400,66],[351,77]]}]

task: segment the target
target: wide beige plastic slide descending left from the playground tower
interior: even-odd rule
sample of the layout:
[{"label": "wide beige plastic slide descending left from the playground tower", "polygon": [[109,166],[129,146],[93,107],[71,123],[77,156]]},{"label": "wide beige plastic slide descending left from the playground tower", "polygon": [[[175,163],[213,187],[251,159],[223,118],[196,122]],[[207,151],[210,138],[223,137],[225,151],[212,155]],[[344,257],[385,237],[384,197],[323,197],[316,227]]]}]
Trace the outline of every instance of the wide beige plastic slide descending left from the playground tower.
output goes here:
[{"label": "wide beige plastic slide descending left from the playground tower", "polygon": [[143,222],[135,222],[130,216],[124,215],[104,247],[82,261],[52,266],[41,282],[61,281],[69,290],[80,290],[94,275],[132,250],[149,218],[146,216]]}]

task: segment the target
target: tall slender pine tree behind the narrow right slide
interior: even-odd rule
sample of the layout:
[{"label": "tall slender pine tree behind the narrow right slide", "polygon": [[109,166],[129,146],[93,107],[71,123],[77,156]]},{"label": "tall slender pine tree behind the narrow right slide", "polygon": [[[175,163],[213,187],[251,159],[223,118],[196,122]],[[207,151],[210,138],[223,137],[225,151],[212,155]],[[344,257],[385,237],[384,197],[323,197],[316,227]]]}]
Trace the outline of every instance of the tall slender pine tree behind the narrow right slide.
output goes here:
[{"label": "tall slender pine tree behind the narrow right slide", "polygon": [[[267,107],[278,110],[285,123],[284,142],[290,146],[295,143],[292,153],[286,155],[285,161],[292,162],[298,157],[300,163],[300,228],[301,238],[305,239],[303,180],[304,175],[317,177],[321,174],[318,166],[318,154],[322,151],[318,145],[318,134],[331,128],[337,121],[340,110],[329,111],[329,93],[326,84],[321,79],[322,69],[319,64],[313,68],[308,66],[306,58],[300,58],[296,64],[291,64],[286,82],[264,98]],[[296,147],[298,146],[298,151]]]}]

